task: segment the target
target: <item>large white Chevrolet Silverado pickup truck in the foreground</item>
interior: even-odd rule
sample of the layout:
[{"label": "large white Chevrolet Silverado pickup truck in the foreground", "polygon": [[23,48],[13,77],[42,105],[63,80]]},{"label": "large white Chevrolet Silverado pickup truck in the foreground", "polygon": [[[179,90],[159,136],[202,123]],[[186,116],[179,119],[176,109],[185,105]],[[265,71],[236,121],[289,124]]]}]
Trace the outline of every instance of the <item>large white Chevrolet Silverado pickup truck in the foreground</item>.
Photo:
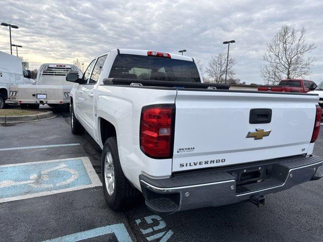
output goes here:
[{"label": "large white Chevrolet Silverado pickup truck in the foreground", "polygon": [[71,90],[71,129],[102,148],[104,197],[122,209],[137,192],[155,213],[220,206],[322,175],[312,155],[316,94],[228,90],[202,83],[188,56],[113,49]]}]

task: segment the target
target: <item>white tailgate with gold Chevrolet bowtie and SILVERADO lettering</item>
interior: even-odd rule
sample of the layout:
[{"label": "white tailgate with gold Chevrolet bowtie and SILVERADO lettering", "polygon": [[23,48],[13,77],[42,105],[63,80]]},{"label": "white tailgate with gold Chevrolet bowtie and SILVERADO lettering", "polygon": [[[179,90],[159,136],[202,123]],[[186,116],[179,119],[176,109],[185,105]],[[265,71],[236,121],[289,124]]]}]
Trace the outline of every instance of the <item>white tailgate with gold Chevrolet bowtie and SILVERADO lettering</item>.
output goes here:
[{"label": "white tailgate with gold Chevrolet bowtie and SILVERADO lettering", "polygon": [[[317,99],[313,95],[283,93],[178,90],[172,169],[305,154]],[[250,124],[251,109],[271,109],[271,122]],[[257,137],[246,138],[249,132]]]}]

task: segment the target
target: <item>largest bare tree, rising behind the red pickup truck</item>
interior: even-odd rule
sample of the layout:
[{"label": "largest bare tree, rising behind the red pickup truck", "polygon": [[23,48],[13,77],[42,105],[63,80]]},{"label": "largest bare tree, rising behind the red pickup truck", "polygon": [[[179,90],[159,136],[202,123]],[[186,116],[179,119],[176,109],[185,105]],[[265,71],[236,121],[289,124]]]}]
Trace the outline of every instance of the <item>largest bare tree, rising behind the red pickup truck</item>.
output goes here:
[{"label": "largest bare tree, rising behind the red pickup truck", "polygon": [[278,76],[293,79],[309,75],[316,58],[306,57],[306,54],[315,48],[315,44],[306,43],[304,28],[297,30],[284,25],[272,41],[266,43],[263,59],[267,64],[261,68],[261,76],[265,82],[275,83]]}]

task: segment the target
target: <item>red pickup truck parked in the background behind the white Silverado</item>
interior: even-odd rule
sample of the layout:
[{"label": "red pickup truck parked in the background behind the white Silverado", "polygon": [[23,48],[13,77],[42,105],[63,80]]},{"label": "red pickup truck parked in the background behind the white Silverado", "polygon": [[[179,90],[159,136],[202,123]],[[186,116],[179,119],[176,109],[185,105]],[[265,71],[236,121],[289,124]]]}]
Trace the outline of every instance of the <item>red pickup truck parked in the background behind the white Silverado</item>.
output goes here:
[{"label": "red pickup truck parked in the background behind the white Silverado", "polygon": [[282,79],[278,86],[259,86],[258,91],[306,93],[314,90],[316,87],[317,85],[314,82],[308,80]]}]

